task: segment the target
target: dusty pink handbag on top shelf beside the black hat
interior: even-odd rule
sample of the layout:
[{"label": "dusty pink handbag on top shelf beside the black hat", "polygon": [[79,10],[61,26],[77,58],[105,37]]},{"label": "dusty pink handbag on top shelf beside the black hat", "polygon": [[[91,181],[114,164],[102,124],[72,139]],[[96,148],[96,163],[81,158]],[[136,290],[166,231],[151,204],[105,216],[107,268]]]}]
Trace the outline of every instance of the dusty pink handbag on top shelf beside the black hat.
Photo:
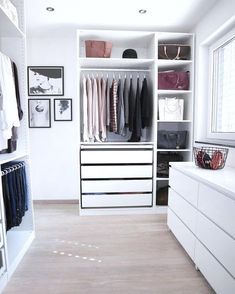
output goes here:
[{"label": "dusty pink handbag on top shelf beside the black hat", "polygon": [[86,57],[109,58],[113,44],[106,41],[86,40]]}]

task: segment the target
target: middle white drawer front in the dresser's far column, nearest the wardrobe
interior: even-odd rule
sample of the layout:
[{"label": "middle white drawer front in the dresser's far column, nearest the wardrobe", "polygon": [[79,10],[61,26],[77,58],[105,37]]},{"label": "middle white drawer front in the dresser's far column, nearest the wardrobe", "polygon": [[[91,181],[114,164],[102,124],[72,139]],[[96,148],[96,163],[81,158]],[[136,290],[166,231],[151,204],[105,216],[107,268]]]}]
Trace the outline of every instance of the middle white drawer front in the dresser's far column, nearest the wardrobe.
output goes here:
[{"label": "middle white drawer front in the dresser's far column, nearest the wardrobe", "polygon": [[169,189],[169,207],[196,234],[197,210],[174,190]]}]

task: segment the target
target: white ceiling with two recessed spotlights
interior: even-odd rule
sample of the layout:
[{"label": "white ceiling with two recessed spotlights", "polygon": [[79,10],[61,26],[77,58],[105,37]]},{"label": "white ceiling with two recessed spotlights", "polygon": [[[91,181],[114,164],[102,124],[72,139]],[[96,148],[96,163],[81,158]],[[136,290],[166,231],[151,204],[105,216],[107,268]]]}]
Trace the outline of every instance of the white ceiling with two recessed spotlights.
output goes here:
[{"label": "white ceiling with two recessed spotlights", "polygon": [[[220,0],[26,0],[29,36],[62,36],[75,29],[190,32]],[[52,6],[54,12],[46,11]],[[146,14],[139,14],[146,9]]]}]

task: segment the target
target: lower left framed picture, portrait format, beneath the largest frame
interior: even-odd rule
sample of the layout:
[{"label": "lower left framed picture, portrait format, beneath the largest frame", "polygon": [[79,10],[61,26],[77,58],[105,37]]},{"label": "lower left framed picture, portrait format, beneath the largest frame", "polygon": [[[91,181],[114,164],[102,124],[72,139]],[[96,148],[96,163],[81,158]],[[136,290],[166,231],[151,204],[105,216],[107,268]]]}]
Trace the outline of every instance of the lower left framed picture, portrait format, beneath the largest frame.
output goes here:
[{"label": "lower left framed picture, portrait format, beneath the largest frame", "polygon": [[29,99],[29,127],[51,127],[51,101],[50,99]]}]

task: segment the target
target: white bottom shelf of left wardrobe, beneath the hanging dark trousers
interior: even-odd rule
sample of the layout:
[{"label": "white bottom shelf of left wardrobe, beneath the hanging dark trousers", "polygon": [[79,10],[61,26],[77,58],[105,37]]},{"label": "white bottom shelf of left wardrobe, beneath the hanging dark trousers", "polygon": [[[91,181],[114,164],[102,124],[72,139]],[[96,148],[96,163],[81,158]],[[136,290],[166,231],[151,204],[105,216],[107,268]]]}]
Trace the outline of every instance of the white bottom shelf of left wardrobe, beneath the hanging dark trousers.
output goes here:
[{"label": "white bottom shelf of left wardrobe, beneath the hanging dark trousers", "polygon": [[11,276],[35,237],[34,231],[7,232],[8,275]]}]

